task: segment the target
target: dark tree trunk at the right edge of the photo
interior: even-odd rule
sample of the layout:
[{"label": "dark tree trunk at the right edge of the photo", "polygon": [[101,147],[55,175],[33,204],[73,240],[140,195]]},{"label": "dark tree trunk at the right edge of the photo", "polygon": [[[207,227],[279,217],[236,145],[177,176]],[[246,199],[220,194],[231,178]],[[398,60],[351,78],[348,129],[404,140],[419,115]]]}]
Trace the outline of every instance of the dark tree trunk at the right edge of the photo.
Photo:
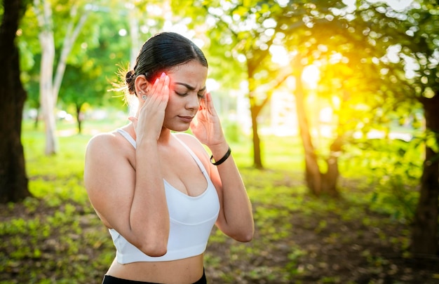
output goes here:
[{"label": "dark tree trunk at the right edge of the photo", "polygon": [[[424,105],[426,130],[435,135],[439,145],[439,92]],[[411,251],[414,255],[438,254],[439,153],[426,145],[424,170],[421,176],[419,202],[414,213]]]}]

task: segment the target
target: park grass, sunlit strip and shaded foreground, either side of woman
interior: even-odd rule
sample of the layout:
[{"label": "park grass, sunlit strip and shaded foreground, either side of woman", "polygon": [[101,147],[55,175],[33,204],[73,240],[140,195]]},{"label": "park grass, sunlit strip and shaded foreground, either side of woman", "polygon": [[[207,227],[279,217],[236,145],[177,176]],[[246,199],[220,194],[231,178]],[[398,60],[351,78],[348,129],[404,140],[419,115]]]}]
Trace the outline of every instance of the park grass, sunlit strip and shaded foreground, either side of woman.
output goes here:
[{"label": "park grass, sunlit strip and shaded foreground, either side of woman", "polygon": [[[86,144],[96,129],[120,125],[88,122],[83,135],[65,135],[74,133],[76,126],[59,123],[62,135],[56,156],[43,154],[41,129],[34,129],[29,121],[23,126],[29,189],[34,198],[1,208],[1,284],[99,283],[114,257],[111,238],[88,202],[82,175]],[[231,142],[254,207],[256,235],[251,243],[237,243],[217,229],[212,231],[205,255],[212,283],[349,283],[346,279],[365,277],[358,273],[367,273],[372,279],[364,283],[380,283],[386,271],[398,268],[380,253],[405,250],[410,231],[389,217],[391,205],[380,215],[367,213],[373,209],[372,203],[380,207],[370,184],[344,179],[344,198],[313,198],[303,183],[299,138],[269,136],[262,140],[266,170],[251,167],[250,137]],[[344,170],[352,178],[358,178],[358,172],[365,173],[359,168]],[[342,255],[338,245],[354,250],[351,258]],[[362,259],[365,268],[350,274],[337,271],[335,259],[341,267]],[[413,269],[407,271],[410,274]],[[414,270],[412,274],[431,278],[428,271]]]}]

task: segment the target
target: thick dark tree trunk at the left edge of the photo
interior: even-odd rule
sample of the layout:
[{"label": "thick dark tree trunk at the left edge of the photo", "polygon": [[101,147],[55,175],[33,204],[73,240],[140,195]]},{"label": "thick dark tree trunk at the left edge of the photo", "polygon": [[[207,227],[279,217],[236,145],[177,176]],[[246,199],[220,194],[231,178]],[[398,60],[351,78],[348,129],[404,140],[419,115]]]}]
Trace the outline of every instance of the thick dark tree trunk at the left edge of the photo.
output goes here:
[{"label": "thick dark tree trunk at the left edge of the photo", "polygon": [[0,27],[0,203],[30,196],[21,144],[22,111],[27,94],[20,81],[19,52],[15,32],[25,5],[3,1]]}]

